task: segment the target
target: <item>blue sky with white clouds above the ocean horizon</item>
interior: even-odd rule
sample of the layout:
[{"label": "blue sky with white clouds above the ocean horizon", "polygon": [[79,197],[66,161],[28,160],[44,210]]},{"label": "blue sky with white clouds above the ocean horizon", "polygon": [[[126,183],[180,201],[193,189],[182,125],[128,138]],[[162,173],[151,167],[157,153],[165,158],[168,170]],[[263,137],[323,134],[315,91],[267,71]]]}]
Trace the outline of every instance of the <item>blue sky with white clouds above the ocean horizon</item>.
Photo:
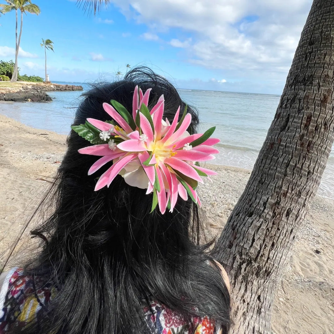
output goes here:
[{"label": "blue sky with white clouds above the ocean horizon", "polygon": [[[114,80],[146,65],[181,89],[280,95],[312,0],[111,0],[96,16],[76,0],[32,0],[23,17],[20,74]],[[0,0],[0,3],[5,3]],[[15,58],[15,12],[0,17],[0,60]]]}]

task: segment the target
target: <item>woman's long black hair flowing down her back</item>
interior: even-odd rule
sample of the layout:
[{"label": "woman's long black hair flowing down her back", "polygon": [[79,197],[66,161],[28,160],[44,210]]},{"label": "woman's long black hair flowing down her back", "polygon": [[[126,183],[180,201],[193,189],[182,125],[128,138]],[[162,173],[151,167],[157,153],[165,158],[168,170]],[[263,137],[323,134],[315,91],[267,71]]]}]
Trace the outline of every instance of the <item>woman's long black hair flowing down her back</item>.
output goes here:
[{"label": "woman's long black hair flowing down her back", "polygon": [[[95,85],[83,94],[73,124],[89,117],[110,119],[102,104],[111,99],[131,110],[136,85],[143,91],[152,88],[149,108],[164,95],[169,120],[179,106],[185,107],[166,79],[148,68],[135,68],[123,80]],[[188,112],[188,130],[195,133],[198,115],[189,106]],[[198,207],[180,199],[173,213],[149,213],[152,195],[129,186],[121,176],[109,188],[94,191],[97,175],[87,171],[97,157],[77,152],[88,145],[71,131],[56,184],[44,200],[52,213],[31,231],[42,238],[42,245],[25,273],[38,278],[36,290],[51,286],[56,293],[23,330],[13,324],[12,332],[149,333],[143,310],[157,301],[179,314],[190,332],[195,330],[192,317],[208,316],[227,333],[229,294],[219,270],[209,265],[210,244],[200,244]]]}]

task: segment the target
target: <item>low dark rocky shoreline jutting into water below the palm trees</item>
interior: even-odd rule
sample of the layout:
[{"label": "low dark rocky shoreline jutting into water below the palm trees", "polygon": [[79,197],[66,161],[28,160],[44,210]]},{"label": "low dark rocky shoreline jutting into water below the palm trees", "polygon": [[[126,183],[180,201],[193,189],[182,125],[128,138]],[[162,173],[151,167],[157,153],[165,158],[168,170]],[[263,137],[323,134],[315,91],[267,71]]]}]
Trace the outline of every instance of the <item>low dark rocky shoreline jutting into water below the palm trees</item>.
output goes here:
[{"label": "low dark rocky shoreline jutting into water below the palm trees", "polygon": [[[22,83],[22,85],[20,85]],[[82,91],[82,86],[59,85],[53,83],[18,82],[16,87],[0,86],[0,101],[13,102],[51,102],[45,92]]]}]

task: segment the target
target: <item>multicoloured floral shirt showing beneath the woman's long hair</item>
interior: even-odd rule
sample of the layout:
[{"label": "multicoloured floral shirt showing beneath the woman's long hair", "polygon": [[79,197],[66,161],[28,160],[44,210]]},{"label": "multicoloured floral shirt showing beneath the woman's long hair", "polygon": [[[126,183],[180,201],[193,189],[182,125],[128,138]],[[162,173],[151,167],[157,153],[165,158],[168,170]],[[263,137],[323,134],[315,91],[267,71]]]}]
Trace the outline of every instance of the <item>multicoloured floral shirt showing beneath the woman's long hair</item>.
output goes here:
[{"label": "multicoloured floral shirt showing beneath the woman's long hair", "polygon": [[[1,281],[0,281],[1,282]],[[14,322],[22,328],[32,316],[38,317],[38,311],[46,308],[54,288],[43,287],[36,292],[36,279],[23,274],[22,269],[13,269],[0,284],[0,334],[8,331]],[[37,281],[38,283],[38,281]],[[12,298],[14,297],[14,298]],[[191,334],[178,315],[167,307],[153,302],[151,309],[144,308],[145,320],[149,330],[157,334]],[[193,319],[194,334],[215,334],[215,322],[207,317]]]}]

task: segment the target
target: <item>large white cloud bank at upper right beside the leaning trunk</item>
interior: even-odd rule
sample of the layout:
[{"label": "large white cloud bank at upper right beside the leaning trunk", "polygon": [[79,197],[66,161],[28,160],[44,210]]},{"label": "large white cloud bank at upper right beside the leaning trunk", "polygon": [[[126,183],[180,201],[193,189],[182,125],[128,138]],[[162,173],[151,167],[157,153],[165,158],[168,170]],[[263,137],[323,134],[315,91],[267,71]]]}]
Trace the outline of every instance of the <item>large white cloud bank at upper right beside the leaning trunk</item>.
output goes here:
[{"label": "large white cloud bank at upper right beside the leaning trunk", "polygon": [[160,38],[169,29],[181,30],[183,42],[172,39],[169,44],[186,48],[191,63],[235,76],[276,80],[285,80],[312,4],[312,0],[111,2],[127,18],[160,33]]}]

